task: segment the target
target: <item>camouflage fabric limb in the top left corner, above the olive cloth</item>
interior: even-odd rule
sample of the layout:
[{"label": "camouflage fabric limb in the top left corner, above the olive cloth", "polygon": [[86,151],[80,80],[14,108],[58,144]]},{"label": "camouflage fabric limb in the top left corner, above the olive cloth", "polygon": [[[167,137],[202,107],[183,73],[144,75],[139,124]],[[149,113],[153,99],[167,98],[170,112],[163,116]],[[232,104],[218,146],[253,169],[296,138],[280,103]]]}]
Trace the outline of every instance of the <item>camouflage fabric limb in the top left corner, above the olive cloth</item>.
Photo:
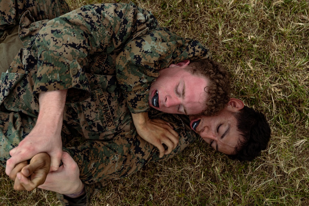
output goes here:
[{"label": "camouflage fabric limb in the top left corner, above the olive cloth", "polygon": [[53,19],[71,10],[64,0],[0,0],[0,30],[18,25],[25,11],[39,21]]}]

